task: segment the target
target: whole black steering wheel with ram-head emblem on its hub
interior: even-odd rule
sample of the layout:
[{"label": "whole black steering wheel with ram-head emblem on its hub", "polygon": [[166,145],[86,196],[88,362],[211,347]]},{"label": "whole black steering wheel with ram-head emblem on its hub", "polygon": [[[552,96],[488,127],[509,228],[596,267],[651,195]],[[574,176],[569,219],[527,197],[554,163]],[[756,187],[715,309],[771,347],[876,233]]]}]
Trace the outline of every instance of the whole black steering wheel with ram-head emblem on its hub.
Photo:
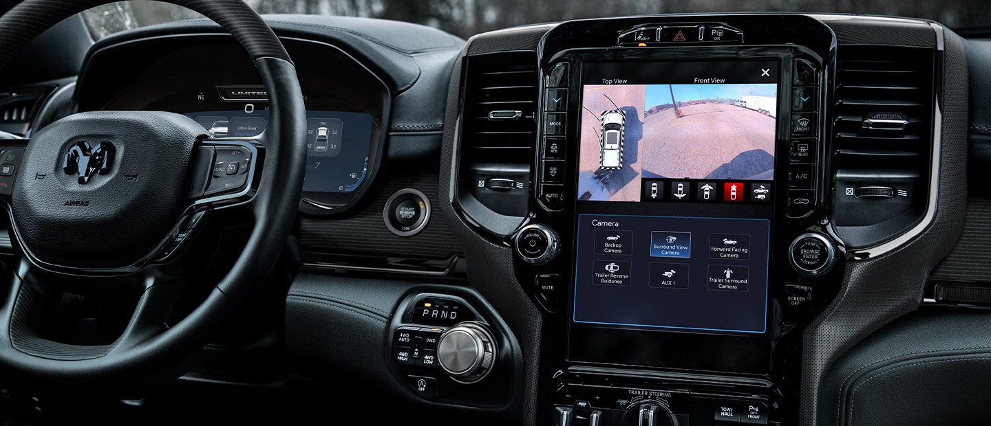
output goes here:
[{"label": "whole black steering wheel with ram-head emblem on its hub", "polygon": [[[56,23],[112,1],[24,1],[0,18],[0,69]],[[170,2],[220,24],[247,51],[269,92],[268,128],[256,137],[210,138],[177,114],[99,111],[59,120],[30,141],[0,140],[0,202],[10,213],[16,259],[0,306],[0,369],[8,375],[71,384],[161,373],[203,347],[285,243],[306,153],[295,68],[242,1]],[[178,284],[195,278],[185,243],[228,209],[251,216],[243,251],[199,305],[168,324]],[[45,327],[52,298],[62,293],[138,301],[115,341],[80,344]]]}]

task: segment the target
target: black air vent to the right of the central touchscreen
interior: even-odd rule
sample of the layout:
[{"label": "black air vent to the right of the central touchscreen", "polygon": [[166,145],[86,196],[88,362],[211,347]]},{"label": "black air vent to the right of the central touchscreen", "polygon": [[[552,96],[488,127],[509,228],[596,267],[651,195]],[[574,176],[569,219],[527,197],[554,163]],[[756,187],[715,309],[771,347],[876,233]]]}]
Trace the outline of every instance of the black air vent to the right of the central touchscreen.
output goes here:
[{"label": "black air vent to the right of the central touchscreen", "polygon": [[915,47],[837,50],[833,222],[848,247],[883,242],[925,212],[934,54]]}]

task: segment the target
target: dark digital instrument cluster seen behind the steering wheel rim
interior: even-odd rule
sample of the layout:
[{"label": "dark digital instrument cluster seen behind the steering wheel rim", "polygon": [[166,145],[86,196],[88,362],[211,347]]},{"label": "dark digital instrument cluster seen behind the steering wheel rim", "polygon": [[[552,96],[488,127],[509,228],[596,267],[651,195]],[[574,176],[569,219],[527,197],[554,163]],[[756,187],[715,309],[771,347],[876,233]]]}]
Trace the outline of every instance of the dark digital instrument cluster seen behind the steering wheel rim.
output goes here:
[{"label": "dark digital instrument cluster seen behind the steering wheel rim", "polygon": [[[378,172],[388,90],[340,49],[287,44],[300,69],[309,70],[299,75],[308,110],[307,140],[300,141],[308,155],[299,208],[316,215],[347,211]],[[185,66],[198,57],[209,57],[210,65]],[[99,77],[80,82],[79,107],[167,111],[192,118],[209,137],[259,137],[268,124],[268,93],[246,63],[236,44],[210,35],[152,37],[97,49],[85,66]],[[90,87],[99,91],[89,93]]]}]

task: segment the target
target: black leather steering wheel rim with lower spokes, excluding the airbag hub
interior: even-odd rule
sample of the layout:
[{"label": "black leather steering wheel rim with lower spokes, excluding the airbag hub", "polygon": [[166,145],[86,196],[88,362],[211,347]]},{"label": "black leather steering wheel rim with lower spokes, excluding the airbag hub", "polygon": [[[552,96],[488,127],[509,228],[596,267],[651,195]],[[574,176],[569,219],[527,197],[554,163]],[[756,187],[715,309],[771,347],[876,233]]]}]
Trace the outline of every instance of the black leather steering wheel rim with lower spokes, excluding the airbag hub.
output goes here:
[{"label": "black leather steering wheel rim with lower spokes, excluding the airbag hub", "polygon": [[[63,19],[112,2],[26,0],[0,17],[0,69],[24,45]],[[270,123],[255,140],[264,148],[264,166],[254,166],[255,177],[249,181],[253,191],[239,200],[239,206],[248,206],[254,216],[248,241],[209,295],[170,327],[163,327],[160,321],[168,307],[163,305],[163,298],[171,297],[165,284],[175,279],[167,277],[165,267],[148,266],[141,268],[141,274],[124,273],[116,278],[143,280],[147,286],[126,329],[107,347],[69,345],[38,336],[29,336],[29,343],[21,341],[26,333],[24,322],[30,319],[26,315],[35,313],[32,309],[42,293],[37,287],[40,283],[33,281],[79,278],[78,272],[38,268],[30,253],[22,256],[12,274],[9,295],[0,306],[0,369],[7,373],[32,382],[59,384],[131,381],[159,373],[203,346],[212,326],[228,317],[238,301],[250,295],[261,277],[270,272],[289,234],[295,209],[286,207],[298,205],[304,175],[305,146],[296,141],[305,137],[305,107],[285,48],[265,21],[240,0],[168,2],[192,9],[229,32],[248,52],[269,91]],[[8,203],[6,207],[10,206]]]}]

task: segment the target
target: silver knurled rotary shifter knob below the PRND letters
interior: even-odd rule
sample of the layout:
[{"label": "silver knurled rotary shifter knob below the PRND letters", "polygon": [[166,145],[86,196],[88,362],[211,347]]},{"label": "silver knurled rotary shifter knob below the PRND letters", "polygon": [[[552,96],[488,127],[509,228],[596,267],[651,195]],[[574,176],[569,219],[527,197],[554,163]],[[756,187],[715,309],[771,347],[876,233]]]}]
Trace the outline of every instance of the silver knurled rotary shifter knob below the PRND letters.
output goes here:
[{"label": "silver knurled rotary shifter knob below the PRND letters", "polygon": [[477,322],[462,322],[447,330],[437,342],[440,368],[455,382],[476,383],[495,365],[495,337]]}]

